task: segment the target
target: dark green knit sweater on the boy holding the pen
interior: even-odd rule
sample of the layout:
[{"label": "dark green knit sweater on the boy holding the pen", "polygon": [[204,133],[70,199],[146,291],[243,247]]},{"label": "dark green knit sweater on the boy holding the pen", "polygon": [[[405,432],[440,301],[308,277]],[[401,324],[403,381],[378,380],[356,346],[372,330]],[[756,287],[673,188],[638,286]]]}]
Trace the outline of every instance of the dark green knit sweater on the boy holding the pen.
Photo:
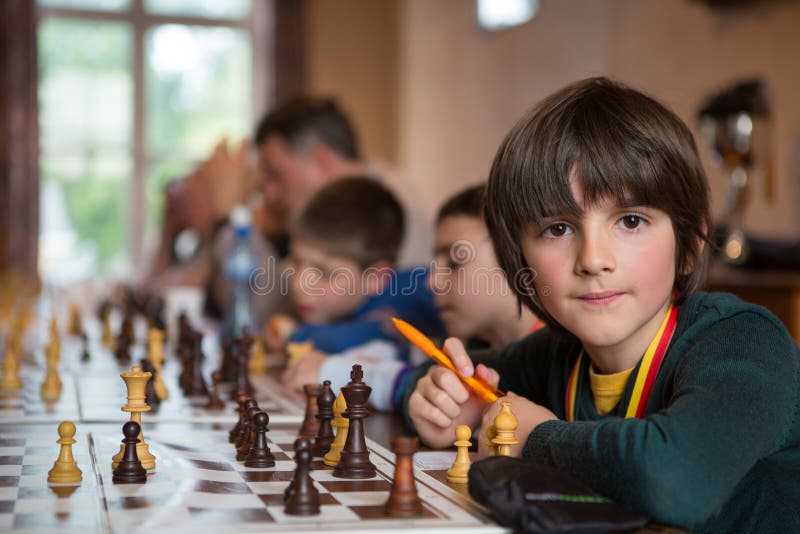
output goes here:
[{"label": "dark green knit sweater on the boy holding the pen", "polygon": [[[476,360],[500,373],[501,389],[564,419],[579,352],[577,341],[544,329]],[[600,417],[588,377],[579,384],[580,420],[540,424],[523,457],[659,523],[800,532],[800,351],[768,311],[727,294],[690,297],[643,419]]]}]

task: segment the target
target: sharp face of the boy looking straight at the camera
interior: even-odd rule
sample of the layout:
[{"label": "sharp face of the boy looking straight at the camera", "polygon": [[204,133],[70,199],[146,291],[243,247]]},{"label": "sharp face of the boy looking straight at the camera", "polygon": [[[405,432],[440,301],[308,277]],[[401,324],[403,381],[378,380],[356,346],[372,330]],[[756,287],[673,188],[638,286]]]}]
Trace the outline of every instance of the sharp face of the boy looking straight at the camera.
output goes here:
[{"label": "sharp face of the boy looking straight at the camera", "polygon": [[[572,181],[572,194],[583,198],[578,180]],[[621,207],[613,200],[578,205],[581,216],[551,217],[521,237],[537,295],[590,355],[639,358],[671,300],[672,221],[658,209]]]}]

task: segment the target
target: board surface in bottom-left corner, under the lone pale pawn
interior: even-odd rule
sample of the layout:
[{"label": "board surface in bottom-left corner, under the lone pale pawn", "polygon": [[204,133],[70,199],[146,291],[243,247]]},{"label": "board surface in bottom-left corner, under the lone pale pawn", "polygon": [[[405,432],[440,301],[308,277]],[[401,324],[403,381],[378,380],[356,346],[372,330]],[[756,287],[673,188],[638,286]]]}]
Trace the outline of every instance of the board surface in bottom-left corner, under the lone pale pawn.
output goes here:
[{"label": "board surface in bottom-left corner, under the lone pale pawn", "polygon": [[0,531],[100,532],[105,514],[98,499],[89,435],[78,429],[73,456],[80,485],[47,483],[58,458],[56,425],[0,427]]}]

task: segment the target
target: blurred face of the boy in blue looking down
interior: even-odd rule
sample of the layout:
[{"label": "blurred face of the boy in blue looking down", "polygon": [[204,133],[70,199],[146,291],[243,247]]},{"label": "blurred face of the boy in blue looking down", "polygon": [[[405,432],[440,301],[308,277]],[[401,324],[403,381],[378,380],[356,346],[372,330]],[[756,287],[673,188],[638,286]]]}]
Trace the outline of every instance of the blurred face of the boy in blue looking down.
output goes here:
[{"label": "blurred face of the boy in blue looking down", "polygon": [[352,315],[367,295],[363,269],[353,260],[331,256],[313,243],[292,240],[289,261],[295,272],[289,291],[304,323],[330,323]]}]

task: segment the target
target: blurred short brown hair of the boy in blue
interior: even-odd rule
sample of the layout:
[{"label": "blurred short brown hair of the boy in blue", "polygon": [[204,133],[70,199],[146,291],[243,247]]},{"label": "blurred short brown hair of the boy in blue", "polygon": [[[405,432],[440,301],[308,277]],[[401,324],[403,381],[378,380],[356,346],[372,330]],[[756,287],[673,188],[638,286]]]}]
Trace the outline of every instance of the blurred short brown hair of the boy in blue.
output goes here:
[{"label": "blurred short brown hair of the boy in blue", "polygon": [[367,268],[381,260],[397,262],[404,225],[403,208],[391,191],[372,178],[350,176],[311,198],[294,221],[290,239]]}]

